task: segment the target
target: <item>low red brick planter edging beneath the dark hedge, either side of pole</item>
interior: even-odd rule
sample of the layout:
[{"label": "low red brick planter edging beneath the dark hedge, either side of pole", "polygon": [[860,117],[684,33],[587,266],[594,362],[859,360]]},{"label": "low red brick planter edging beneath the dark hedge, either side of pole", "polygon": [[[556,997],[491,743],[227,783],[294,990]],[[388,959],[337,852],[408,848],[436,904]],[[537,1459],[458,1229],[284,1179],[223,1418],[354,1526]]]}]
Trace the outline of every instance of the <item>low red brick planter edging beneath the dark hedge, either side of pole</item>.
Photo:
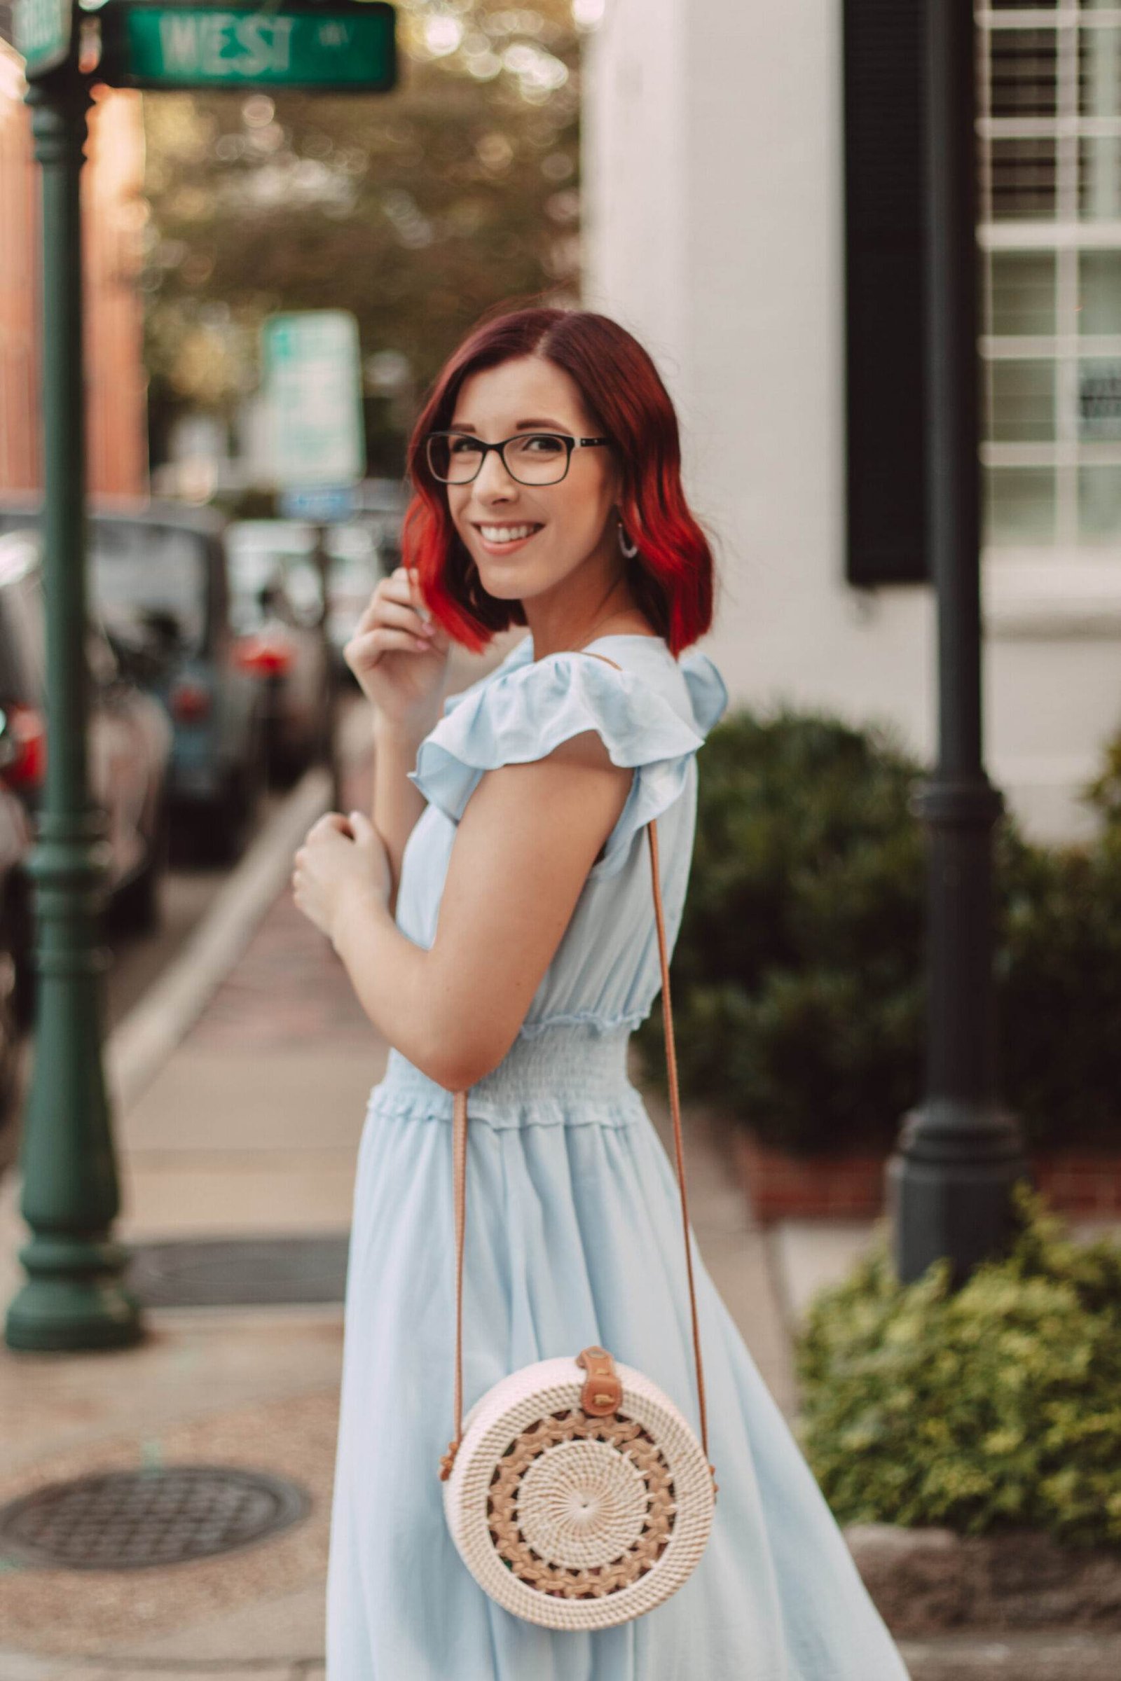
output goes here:
[{"label": "low red brick planter edging beneath the dark hedge, either side of pole", "polygon": [[[733,1153],[751,1210],[773,1220],[871,1220],[884,1212],[886,1157],[793,1155],[733,1130]],[[1121,1151],[1050,1150],[1032,1158],[1039,1190],[1060,1214],[1121,1217]]]}]

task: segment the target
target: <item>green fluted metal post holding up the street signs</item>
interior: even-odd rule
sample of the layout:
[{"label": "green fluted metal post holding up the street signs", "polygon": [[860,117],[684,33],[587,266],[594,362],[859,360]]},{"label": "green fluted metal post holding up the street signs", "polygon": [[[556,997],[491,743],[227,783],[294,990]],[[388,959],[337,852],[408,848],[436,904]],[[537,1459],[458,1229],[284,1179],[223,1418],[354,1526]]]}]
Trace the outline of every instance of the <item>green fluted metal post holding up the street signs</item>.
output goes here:
[{"label": "green fluted metal post holding up the street signs", "polygon": [[[113,1242],[119,1209],[101,1056],[106,956],[97,911],[106,874],[103,817],[89,798],[86,718],[86,454],[79,177],[89,109],[76,62],[71,0],[47,35],[37,0],[24,45],[35,158],[42,170],[44,588],[47,617],[47,780],[37,844],[39,970],[35,1062],[24,1118],[22,1212],[27,1281],[7,1315],[17,1350],[134,1343],[136,1301]],[[24,7],[27,12],[27,5]],[[37,50],[39,47],[39,50]],[[52,49],[54,47],[54,54]],[[45,66],[45,69],[44,69]]]}]

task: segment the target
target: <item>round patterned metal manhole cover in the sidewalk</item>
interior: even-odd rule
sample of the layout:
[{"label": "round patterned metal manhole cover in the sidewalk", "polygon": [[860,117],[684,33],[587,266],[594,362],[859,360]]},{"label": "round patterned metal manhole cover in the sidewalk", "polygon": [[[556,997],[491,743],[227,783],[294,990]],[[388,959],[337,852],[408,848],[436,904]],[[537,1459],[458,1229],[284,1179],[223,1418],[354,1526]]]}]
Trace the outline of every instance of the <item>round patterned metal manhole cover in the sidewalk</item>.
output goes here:
[{"label": "round patterned metal manhole cover in the sidewalk", "polygon": [[55,1570],[145,1570],[249,1547],[309,1510],[299,1484],[235,1466],[109,1471],[0,1508],[0,1552]]}]

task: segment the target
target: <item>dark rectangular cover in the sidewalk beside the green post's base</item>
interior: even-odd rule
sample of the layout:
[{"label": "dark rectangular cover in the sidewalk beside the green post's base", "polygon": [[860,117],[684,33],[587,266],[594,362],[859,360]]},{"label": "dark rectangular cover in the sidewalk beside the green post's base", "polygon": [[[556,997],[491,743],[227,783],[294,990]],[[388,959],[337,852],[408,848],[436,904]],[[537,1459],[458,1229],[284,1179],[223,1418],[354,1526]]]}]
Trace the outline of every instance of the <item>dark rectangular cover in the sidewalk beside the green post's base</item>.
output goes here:
[{"label": "dark rectangular cover in the sidewalk beside the green post's base", "polygon": [[343,1301],[346,1232],[134,1244],[128,1288],[150,1308]]}]

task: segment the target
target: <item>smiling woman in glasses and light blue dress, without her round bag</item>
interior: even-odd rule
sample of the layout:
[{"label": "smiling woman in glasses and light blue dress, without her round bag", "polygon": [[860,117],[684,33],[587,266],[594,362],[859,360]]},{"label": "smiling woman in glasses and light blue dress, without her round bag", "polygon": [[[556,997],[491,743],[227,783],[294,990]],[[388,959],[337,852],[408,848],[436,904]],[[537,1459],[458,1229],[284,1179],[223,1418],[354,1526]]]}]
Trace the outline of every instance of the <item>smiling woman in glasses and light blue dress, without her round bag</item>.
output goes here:
[{"label": "smiling woman in glasses and light blue dress, without her round bag", "polygon": [[[906,1671],[805,1461],[697,1264],[708,1548],[654,1610],[558,1632],[461,1562],[452,1427],[452,1093],[471,1089],[464,1407],[602,1343],[696,1422],[677,1188],[637,1089],[659,990],[644,825],[676,938],[696,753],[726,706],[657,372],[613,321],[477,328],[408,456],[413,570],[346,659],[375,704],[373,822],[323,817],[299,908],[392,1051],[363,1131],[328,1585],[329,1681],[897,1681]],[[444,699],[452,640],[526,625]],[[605,657],[597,657],[605,656]]]}]

